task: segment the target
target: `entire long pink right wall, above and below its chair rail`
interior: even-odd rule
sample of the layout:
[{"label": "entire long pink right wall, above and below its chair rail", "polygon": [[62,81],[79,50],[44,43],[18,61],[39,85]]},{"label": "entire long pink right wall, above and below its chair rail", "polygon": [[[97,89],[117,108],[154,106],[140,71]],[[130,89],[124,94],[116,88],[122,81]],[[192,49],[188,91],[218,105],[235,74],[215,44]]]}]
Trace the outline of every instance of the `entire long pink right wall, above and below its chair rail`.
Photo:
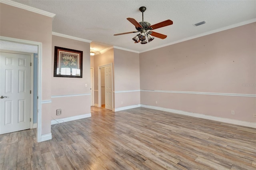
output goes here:
[{"label": "entire long pink right wall, above and below its chair rail", "polygon": [[[255,29],[247,24],[141,53],[140,89],[255,95]],[[256,122],[255,97],[142,91],[141,104]]]}]

